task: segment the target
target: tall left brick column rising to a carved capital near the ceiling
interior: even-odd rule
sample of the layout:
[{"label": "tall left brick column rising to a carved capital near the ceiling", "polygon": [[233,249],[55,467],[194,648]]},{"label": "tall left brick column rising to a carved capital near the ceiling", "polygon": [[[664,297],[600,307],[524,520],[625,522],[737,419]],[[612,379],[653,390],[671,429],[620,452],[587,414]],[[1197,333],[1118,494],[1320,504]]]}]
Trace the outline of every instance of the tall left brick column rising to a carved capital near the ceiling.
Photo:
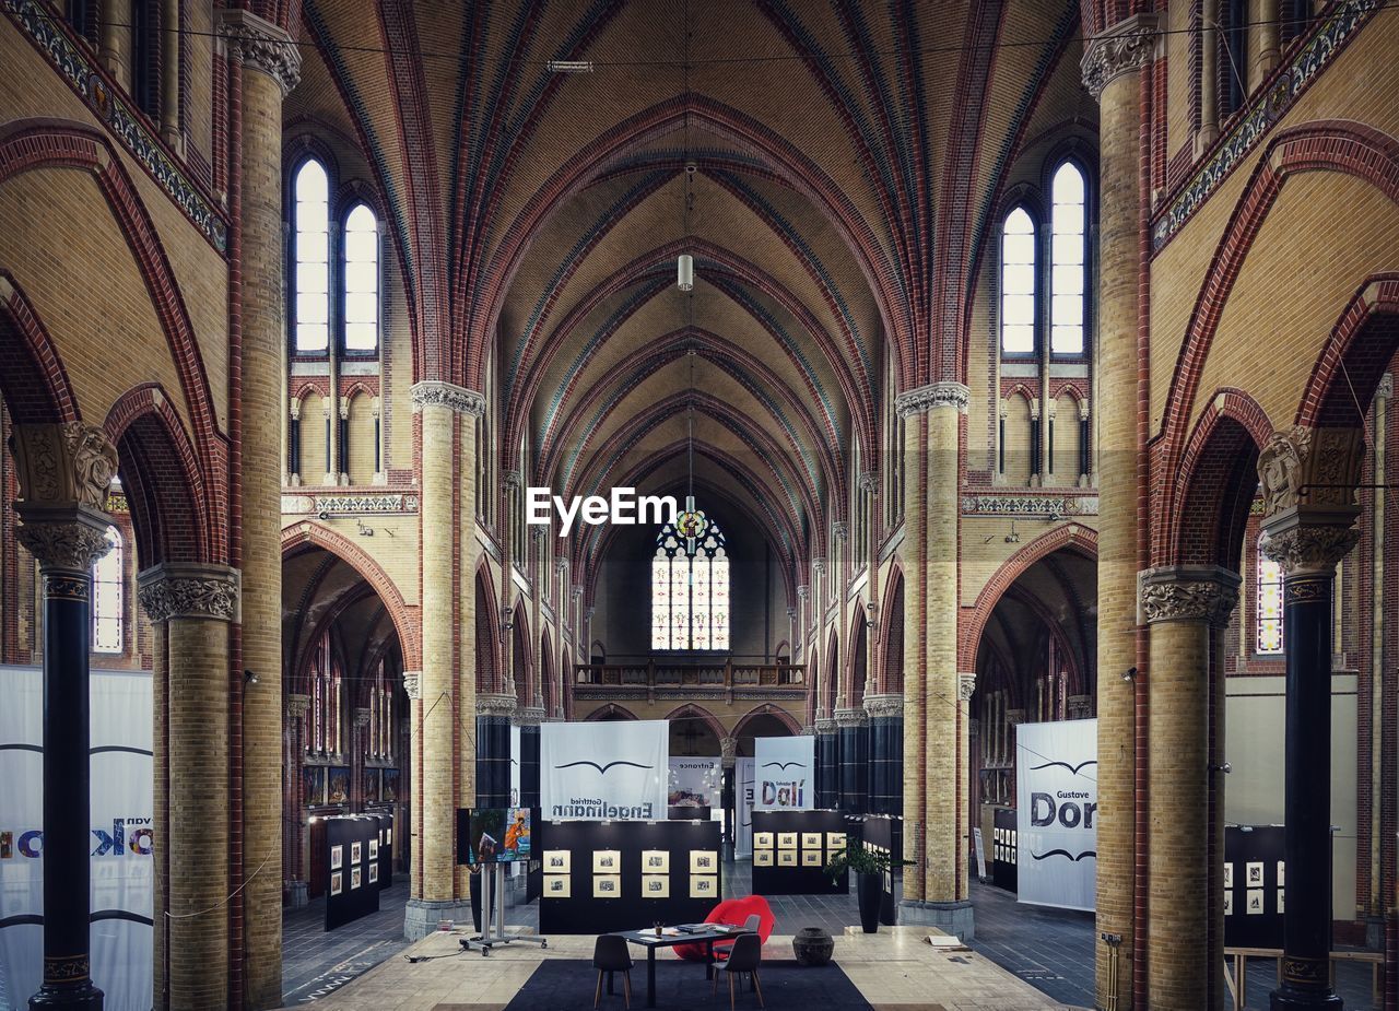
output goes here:
[{"label": "tall left brick column rising to a carved capital near the ceiling", "polygon": [[[242,271],[242,344],[234,362],[242,424],[234,480],[242,502],[239,551],[242,667],[259,682],[241,699],[242,891],[231,906],[242,923],[242,1000],[255,1008],[281,1003],[281,400],[283,164],[281,103],[301,78],[301,50],[277,25],[245,10],[218,14],[229,60],[241,67],[242,130],[238,267]],[[235,705],[238,701],[235,699]],[[176,755],[171,754],[171,761]],[[172,815],[173,817],[173,815]],[[206,854],[210,850],[206,849]],[[241,905],[239,905],[241,903]],[[173,968],[172,968],[173,972]],[[172,979],[173,986],[173,979]],[[235,983],[235,990],[239,986]],[[235,998],[238,994],[235,994]]]}]

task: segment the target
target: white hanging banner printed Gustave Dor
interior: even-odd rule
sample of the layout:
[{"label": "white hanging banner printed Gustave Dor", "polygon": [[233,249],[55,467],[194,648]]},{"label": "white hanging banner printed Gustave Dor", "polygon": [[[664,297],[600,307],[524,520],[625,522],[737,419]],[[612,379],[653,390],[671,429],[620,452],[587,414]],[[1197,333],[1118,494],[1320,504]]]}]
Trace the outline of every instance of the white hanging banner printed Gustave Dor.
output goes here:
[{"label": "white hanging banner printed Gustave Dor", "polygon": [[1098,874],[1098,722],[1016,727],[1018,899],[1093,910]]}]

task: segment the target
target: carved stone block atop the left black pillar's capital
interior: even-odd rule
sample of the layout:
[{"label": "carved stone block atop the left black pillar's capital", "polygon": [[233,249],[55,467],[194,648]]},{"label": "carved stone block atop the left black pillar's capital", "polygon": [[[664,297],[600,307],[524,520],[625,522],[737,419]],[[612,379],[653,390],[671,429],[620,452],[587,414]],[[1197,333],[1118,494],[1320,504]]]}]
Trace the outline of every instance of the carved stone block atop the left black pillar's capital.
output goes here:
[{"label": "carved stone block atop the left black pillar's capital", "polygon": [[106,509],[116,477],[116,446],[99,425],[64,421],[15,425],[10,435],[20,502],[28,506]]}]

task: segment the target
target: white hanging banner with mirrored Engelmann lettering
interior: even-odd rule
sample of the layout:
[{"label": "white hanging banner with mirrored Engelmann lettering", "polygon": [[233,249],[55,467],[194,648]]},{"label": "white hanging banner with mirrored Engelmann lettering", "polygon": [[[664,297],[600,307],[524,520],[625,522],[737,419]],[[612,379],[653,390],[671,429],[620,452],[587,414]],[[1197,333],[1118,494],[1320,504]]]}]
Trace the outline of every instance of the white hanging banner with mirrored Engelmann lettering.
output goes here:
[{"label": "white hanging banner with mirrored Engelmann lettering", "polygon": [[666,817],[667,720],[544,723],[539,731],[544,818]]}]

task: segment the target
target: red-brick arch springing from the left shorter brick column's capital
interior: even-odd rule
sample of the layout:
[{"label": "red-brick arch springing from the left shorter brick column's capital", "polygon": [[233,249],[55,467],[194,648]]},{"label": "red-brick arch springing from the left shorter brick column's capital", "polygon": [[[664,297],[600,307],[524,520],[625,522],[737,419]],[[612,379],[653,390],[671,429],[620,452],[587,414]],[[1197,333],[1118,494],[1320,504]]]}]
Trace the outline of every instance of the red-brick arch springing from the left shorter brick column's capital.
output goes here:
[{"label": "red-brick arch springing from the left shorter brick column's capital", "polygon": [[104,426],[116,443],[141,568],[224,561],[194,446],[159,385],[123,393]]}]

